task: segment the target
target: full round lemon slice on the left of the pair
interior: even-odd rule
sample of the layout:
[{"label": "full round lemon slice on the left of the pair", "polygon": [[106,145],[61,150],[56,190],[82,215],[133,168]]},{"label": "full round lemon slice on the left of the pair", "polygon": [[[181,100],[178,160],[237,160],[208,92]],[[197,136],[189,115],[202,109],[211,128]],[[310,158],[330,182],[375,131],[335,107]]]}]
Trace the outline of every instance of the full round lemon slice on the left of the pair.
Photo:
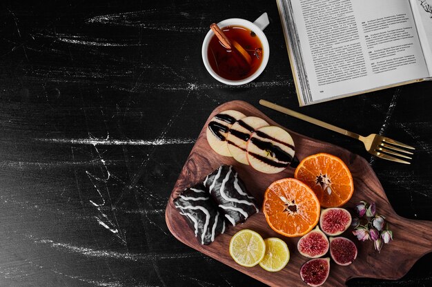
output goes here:
[{"label": "full round lemon slice on the left of the pair", "polygon": [[266,244],[261,235],[249,229],[243,229],[230,240],[230,255],[234,261],[245,267],[257,265],[266,253]]}]

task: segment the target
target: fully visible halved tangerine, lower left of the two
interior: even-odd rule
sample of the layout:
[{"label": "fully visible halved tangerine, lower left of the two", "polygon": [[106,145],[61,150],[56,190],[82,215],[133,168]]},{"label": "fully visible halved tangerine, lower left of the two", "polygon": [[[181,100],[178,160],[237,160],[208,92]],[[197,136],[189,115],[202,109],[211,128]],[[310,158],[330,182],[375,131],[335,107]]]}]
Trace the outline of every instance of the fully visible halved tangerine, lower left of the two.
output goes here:
[{"label": "fully visible halved tangerine, lower left of the two", "polygon": [[270,184],[264,194],[264,215],[277,233],[302,236],[320,219],[320,201],[306,184],[295,178],[284,178]]}]

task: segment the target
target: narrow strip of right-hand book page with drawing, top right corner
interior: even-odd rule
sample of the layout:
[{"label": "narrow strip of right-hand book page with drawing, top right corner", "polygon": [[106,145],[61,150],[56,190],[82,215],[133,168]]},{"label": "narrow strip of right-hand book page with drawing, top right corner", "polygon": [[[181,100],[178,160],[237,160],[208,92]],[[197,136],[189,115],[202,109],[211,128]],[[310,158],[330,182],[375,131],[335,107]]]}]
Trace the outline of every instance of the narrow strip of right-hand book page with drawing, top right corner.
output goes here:
[{"label": "narrow strip of right-hand book page with drawing, top right corner", "polygon": [[429,77],[432,77],[432,0],[410,0]]}]

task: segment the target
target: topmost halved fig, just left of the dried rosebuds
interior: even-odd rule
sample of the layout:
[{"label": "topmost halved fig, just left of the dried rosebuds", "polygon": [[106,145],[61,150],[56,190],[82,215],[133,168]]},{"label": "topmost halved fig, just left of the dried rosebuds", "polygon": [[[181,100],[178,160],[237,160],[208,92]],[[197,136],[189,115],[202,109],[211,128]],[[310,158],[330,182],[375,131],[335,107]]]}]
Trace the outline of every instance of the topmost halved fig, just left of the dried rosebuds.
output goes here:
[{"label": "topmost halved fig, just left of the dried rosebuds", "polygon": [[320,215],[321,230],[329,236],[340,235],[351,225],[351,220],[351,214],[346,209],[323,209]]}]

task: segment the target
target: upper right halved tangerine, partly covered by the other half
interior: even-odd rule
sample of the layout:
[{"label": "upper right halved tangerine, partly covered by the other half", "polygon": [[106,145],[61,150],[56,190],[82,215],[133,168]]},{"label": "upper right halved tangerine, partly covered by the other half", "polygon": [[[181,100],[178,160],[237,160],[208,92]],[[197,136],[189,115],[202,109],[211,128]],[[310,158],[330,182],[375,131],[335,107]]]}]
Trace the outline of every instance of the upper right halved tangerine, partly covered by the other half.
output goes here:
[{"label": "upper right halved tangerine, partly covered by the other half", "polygon": [[354,192],[353,176],[337,156],[317,153],[304,158],[294,177],[311,187],[323,207],[342,206]]}]

